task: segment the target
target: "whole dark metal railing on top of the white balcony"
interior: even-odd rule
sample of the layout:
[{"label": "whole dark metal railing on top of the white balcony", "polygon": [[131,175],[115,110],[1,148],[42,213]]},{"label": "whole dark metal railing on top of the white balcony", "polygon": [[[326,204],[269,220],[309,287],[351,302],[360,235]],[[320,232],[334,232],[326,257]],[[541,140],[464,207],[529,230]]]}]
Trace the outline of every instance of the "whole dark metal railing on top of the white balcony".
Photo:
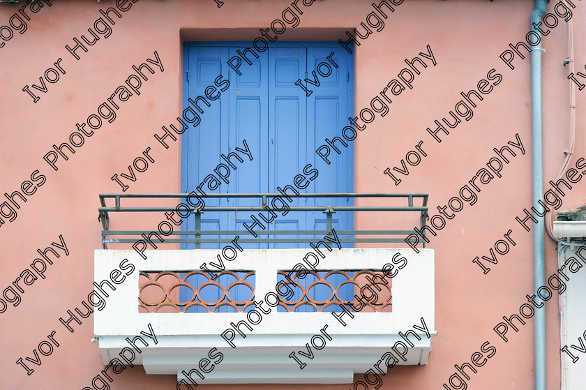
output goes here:
[{"label": "whole dark metal railing on top of the white balcony", "polygon": [[[141,234],[149,234],[151,230],[110,230],[110,213],[127,213],[127,212],[156,212],[156,211],[176,211],[176,207],[122,207],[122,198],[187,198],[186,193],[174,193],[174,194],[100,194],[100,204],[102,207],[98,207],[98,220],[101,221],[103,226],[102,231],[102,246],[107,249],[107,243],[134,243],[137,239],[140,239]],[[195,248],[200,248],[201,243],[230,243],[230,238],[202,238],[202,236],[217,236],[217,235],[252,235],[248,230],[202,230],[202,213],[206,211],[267,211],[267,199],[271,198],[283,198],[283,197],[301,197],[301,198],[320,198],[320,197],[380,197],[380,198],[405,198],[407,200],[407,206],[292,206],[289,207],[289,211],[322,211],[326,214],[326,230],[255,230],[255,233],[261,236],[273,236],[283,234],[296,234],[296,235],[328,235],[331,237],[333,227],[333,214],[337,212],[360,212],[360,211],[414,211],[419,212],[419,228],[425,225],[425,221],[428,218],[428,194],[421,193],[403,193],[403,194],[381,194],[381,193],[308,193],[308,194],[287,194],[281,193],[259,193],[259,194],[208,194],[207,198],[260,198],[262,205],[257,207],[250,206],[206,206],[200,209],[199,207],[188,207],[191,213],[195,215],[195,230],[174,230],[169,235],[182,236],[178,239],[165,239],[165,243],[195,243]],[[106,199],[114,199],[114,207],[108,207],[106,205]],[[421,206],[415,206],[414,200],[421,199]],[[284,202],[283,202],[284,203]],[[183,208],[183,210],[187,210]],[[187,217],[189,218],[189,217]],[[166,220],[163,218],[163,220]],[[375,235],[375,236],[397,236],[397,235],[408,235],[416,233],[415,230],[336,230],[336,234],[341,236],[346,235]],[[112,236],[136,236],[137,238],[108,238]],[[193,238],[188,238],[193,237]],[[320,238],[269,238],[260,239],[239,239],[239,243],[311,243],[318,242]],[[340,242],[352,242],[352,243],[396,243],[405,242],[404,238],[394,237],[371,237],[371,238],[340,238]],[[425,248],[425,241],[423,240],[423,247]]]}]

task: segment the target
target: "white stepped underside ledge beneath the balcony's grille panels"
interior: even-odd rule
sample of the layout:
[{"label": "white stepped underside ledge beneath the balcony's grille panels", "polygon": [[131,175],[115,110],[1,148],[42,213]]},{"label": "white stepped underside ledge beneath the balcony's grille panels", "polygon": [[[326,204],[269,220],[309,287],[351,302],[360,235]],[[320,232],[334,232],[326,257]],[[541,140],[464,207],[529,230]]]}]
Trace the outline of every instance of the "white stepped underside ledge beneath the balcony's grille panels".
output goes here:
[{"label": "white stepped underside ledge beneath the balcony's grille panels", "polygon": [[[398,335],[336,335],[329,343],[345,346],[326,346],[317,351],[313,349],[313,359],[300,356],[307,363],[301,370],[299,364],[287,357],[291,352],[307,352],[304,343],[312,336],[249,335],[246,343],[241,343],[236,349],[227,345],[223,347],[218,343],[223,340],[217,337],[159,336],[156,348],[148,350],[148,353],[143,352],[142,357],[137,355],[133,363],[142,364],[147,374],[178,375],[181,380],[185,377],[181,371],[188,373],[192,368],[197,368],[200,360],[207,358],[209,345],[216,345],[218,351],[214,353],[223,354],[223,361],[211,373],[204,373],[204,381],[193,374],[198,383],[351,383],[354,374],[366,373],[373,368],[395,343],[404,343]],[[409,347],[405,354],[406,361],[400,361],[399,365],[427,363],[431,340],[425,335],[421,336],[420,341],[411,338],[415,346]],[[105,363],[119,357],[123,347],[128,347],[123,336],[100,338],[100,350]],[[379,367],[386,371],[384,362]]]}]

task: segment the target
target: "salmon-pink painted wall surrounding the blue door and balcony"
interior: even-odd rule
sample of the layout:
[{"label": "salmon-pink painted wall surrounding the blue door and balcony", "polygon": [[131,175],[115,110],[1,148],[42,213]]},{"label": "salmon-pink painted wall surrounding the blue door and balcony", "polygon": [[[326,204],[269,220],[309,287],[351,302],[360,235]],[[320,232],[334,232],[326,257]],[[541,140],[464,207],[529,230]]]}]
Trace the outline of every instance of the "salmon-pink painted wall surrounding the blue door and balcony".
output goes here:
[{"label": "salmon-pink painted wall surrounding the blue door and balcony", "polygon": [[[92,290],[93,250],[100,248],[100,223],[96,220],[98,193],[118,193],[121,188],[110,180],[124,172],[144,148],[153,144],[153,133],[172,123],[181,112],[182,43],[190,40],[249,40],[260,35],[258,29],[268,27],[280,17],[287,1],[224,0],[221,8],[213,0],[151,1],[140,0],[115,19],[112,34],[88,46],[88,52],[77,50],[75,60],[65,49],[93,27],[100,10],[115,7],[115,1],[53,1],[37,13],[27,13],[27,30],[0,29],[5,45],[0,48],[0,192],[13,193],[25,181],[45,177],[36,192],[20,202],[16,218],[7,218],[0,226],[0,287],[4,290],[19,274],[30,268],[52,242],[61,235],[68,248],[57,249],[61,255],[48,267],[45,279],[23,285],[18,306],[8,305],[0,314],[1,389],[83,389],[103,369],[98,345],[93,338],[93,317],[75,324],[75,332],[67,333],[59,323],[66,310],[80,307]],[[287,28],[279,40],[336,40],[344,38],[346,29],[359,27],[373,8],[372,1],[324,0],[302,8],[296,29]],[[378,1],[377,1],[378,3]],[[395,1],[400,3],[400,1]],[[576,71],[586,64],[585,5],[574,0],[572,9]],[[557,1],[548,4],[554,13]],[[0,5],[0,25],[8,25],[22,3]],[[404,366],[389,370],[383,377],[382,389],[442,389],[454,364],[470,362],[471,355],[490,340],[497,349],[485,366],[467,380],[469,389],[521,389],[534,386],[533,320],[528,320],[518,333],[509,331],[504,343],[493,331],[503,315],[518,314],[532,291],[532,232],[525,232],[514,219],[531,206],[531,89],[528,56],[513,60],[511,70],[499,54],[509,43],[525,40],[529,31],[532,1],[497,0],[407,0],[395,6],[384,20],[384,29],[374,31],[356,47],[354,57],[355,114],[370,106],[370,100],[396,79],[406,67],[404,59],[429,45],[436,66],[428,66],[416,75],[413,89],[394,96],[384,117],[376,114],[366,130],[354,140],[354,188],[356,192],[423,192],[430,194],[430,214],[437,207],[458,196],[460,188],[472,179],[488,160],[495,156],[493,148],[516,142],[518,134],[525,154],[517,154],[505,165],[501,178],[479,185],[476,204],[463,202],[463,209],[433,237],[436,267],[436,330],[433,352],[427,366]],[[27,8],[29,10],[29,8]],[[563,10],[559,8],[559,12]],[[18,29],[19,21],[13,18]],[[553,20],[552,20],[553,21]],[[100,27],[101,28],[101,27]],[[567,57],[566,23],[560,22],[544,37],[543,47],[543,123],[544,171],[546,181],[555,179],[564,158],[569,135],[569,74],[563,66]],[[338,50],[343,50],[340,46]],[[66,142],[76,130],[76,123],[96,114],[114,90],[133,73],[132,66],[158,53],[164,71],[144,81],[140,96],[121,103],[117,117],[86,137],[82,147],[70,156],[60,158],[54,171],[43,156],[53,144]],[[63,73],[59,81],[46,83],[47,92],[29,87],[40,97],[37,103],[22,89],[39,84],[47,68],[56,68],[59,58]],[[428,61],[430,64],[430,61]],[[491,69],[502,76],[493,91],[476,101],[474,116],[462,119],[449,135],[439,134],[438,143],[426,131],[435,128],[434,120],[450,119],[462,98],[460,91],[477,89]],[[53,73],[47,74],[55,79]],[[494,77],[494,73],[493,73]],[[585,79],[583,79],[584,81]],[[488,88],[488,87],[487,87]],[[586,157],[586,123],[582,109],[586,91],[576,91],[576,149],[571,166]],[[460,106],[461,108],[461,106]],[[86,128],[87,130],[87,128]],[[396,186],[384,175],[390,167],[401,167],[409,151],[421,148],[427,157],[416,167],[408,165],[408,176],[396,174]],[[77,142],[77,140],[75,140]],[[515,151],[518,149],[512,148]],[[181,148],[179,142],[170,149],[153,149],[152,163],[146,172],[137,174],[131,193],[173,193],[180,190]],[[40,171],[33,175],[34,171]],[[396,172],[396,171],[393,171]],[[585,202],[582,180],[563,197],[562,209]],[[477,183],[477,181],[476,181]],[[24,184],[31,193],[33,187]],[[547,190],[550,186],[546,186]],[[172,204],[169,202],[168,204]],[[364,203],[366,204],[366,202]],[[6,208],[5,208],[6,210]],[[159,216],[135,218],[133,226],[147,229],[156,226]],[[385,217],[386,218],[386,217]],[[356,220],[356,227],[374,228],[386,222],[376,216]],[[412,220],[398,220],[412,223]],[[124,222],[126,223],[126,221]],[[474,257],[488,256],[489,248],[502,239],[507,230],[516,242],[498,264],[489,264],[486,275]],[[428,234],[430,236],[430,234]],[[411,264],[413,265],[413,264]],[[557,269],[555,245],[546,239],[546,276]],[[22,284],[22,282],[21,282]],[[9,296],[10,297],[10,296]],[[558,294],[546,304],[548,389],[559,388],[559,314]],[[585,324],[586,328],[586,324]],[[41,365],[27,363],[34,369],[30,376],[17,359],[33,358],[33,349],[56,330],[59,343],[50,356],[40,356]],[[45,345],[45,349],[48,348]],[[375,362],[373,362],[375,363]],[[467,370],[469,372],[469,370]],[[360,380],[362,375],[356,375]],[[112,389],[174,389],[176,377],[146,375],[142,367],[128,368],[114,377]],[[202,385],[225,389],[227,385]],[[351,385],[239,385],[241,389],[349,389]]]}]

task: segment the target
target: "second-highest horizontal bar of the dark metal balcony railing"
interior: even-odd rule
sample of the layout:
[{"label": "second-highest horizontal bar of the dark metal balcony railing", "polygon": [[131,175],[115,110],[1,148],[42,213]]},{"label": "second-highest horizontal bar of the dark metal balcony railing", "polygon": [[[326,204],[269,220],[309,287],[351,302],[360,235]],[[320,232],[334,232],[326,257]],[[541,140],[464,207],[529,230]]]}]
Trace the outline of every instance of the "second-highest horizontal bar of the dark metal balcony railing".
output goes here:
[{"label": "second-highest horizontal bar of the dark metal balcony railing", "polygon": [[[191,211],[195,211],[195,207],[189,207]],[[290,211],[326,211],[327,207],[290,207]],[[376,207],[376,206],[333,206],[333,211],[428,211],[427,207]],[[266,211],[264,207],[204,207],[203,212],[206,211]],[[140,212],[140,211],[176,211],[175,207],[98,207],[98,211],[103,212]]]}]

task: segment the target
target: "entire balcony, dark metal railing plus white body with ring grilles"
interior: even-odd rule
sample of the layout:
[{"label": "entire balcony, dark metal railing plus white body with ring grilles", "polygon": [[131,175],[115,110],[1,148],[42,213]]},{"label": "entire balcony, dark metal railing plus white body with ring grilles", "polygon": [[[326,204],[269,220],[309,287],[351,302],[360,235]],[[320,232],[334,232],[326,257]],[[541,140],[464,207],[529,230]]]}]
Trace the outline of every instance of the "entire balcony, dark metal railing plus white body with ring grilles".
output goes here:
[{"label": "entire balcony, dark metal railing plus white body with ring grilles", "polygon": [[[149,231],[109,229],[113,213],[123,213],[126,219],[130,213],[155,214],[161,220],[163,212],[175,210],[171,206],[122,207],[123,198],[152,202],[153,198],[187,195],[100,195],[105,249],[96,250],[94,278],[98,285],[110,280],[116,289],[107,290],[110,297],[105,308],[94,315],[94,333],[105,364],[130,347],[127,338],[148,333],[149,325],[157,343],[143,337],[149,345],[138,341],[140,352],[135,350],[132,363],[144,366],[149,374],[177,375],[183,389],[195,383],[351,383],[355,373],[366,373],[392,351],[400,358],[398,364],[427,363],[435,336],[433,250],[339,248],[336,240],[340,246],[404,243],[414,230],[338,231],[333,227],[335,213],[353,213],[361,223],[359,213],[380,216],[387,211],[403,216],[393,218],[393,223],[409,223],[405,215],[411,214],[421,226],[427,216],[427,195],[299,195],[329,200],[382,198],[377,202],[390,205],[292,207],[292,211],[323,211],[326,230],[255,231],[255,238],[248,230],[204,231],[198,223],[206,211],[266,211],[267,200],[282,195],[217,194],[214,196],[232,199],[257,196],[262,206],[194,207],[187,218],[193,218],[195,229],[159,230],[169,234],[161,236],[164,243],[152,237],[156,250],[145,239]],[[114,207],[106,205],[108,198],[114,198]],[[406,206],[397,205],[405,200]],[[421,206],[414,206],[414,200],[421,200]],[[379,219],[377,226],[389,224]],[[237,241],[241,245],[266,243],[272,247],[230,251],[228,257],[235,258],[223,262],[225,269],[209,267],[206,271],[200,266],[218,263],[220,249],[177,248],[179,244],[230,245],[235,235],[248,236]],[[144,246],[137,244],[141,240]],[[308,244],[278,248],[285,243],[313,243],[324,257]],[[331,244],[331,250],[324,243]],[[134,249],[111,248],[124,244],[132,244]],[[163,248],[167,244],[174,248]],[[135,269],[131,271],[129,264]],[[117,269],[121,271],[113,271]],[[125,276],[123,281],[120,273]],[[413,346],[407,345],[403,336],[414,325],[421,327],[422,317],[429,336],[415,330],[408,336]],[[402,349],[400,343],[407,348]],[[384,363],[380,368],[386,371]]]}]

